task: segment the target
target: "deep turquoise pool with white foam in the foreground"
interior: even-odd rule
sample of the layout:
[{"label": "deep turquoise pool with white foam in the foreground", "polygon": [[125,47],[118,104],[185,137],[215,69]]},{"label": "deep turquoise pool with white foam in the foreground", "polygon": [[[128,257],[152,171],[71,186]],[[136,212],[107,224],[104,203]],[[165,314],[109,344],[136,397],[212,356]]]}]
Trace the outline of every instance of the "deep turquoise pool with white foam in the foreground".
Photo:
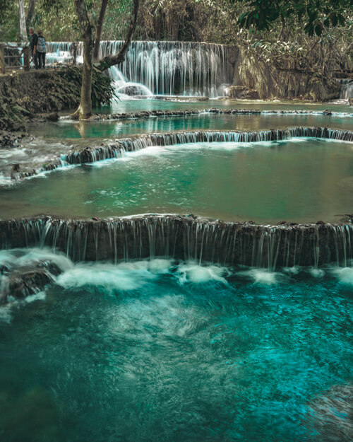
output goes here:
[{"label": "deep turquoise pool with white foam in the foreground", "polygon": [[352,268],[56,260],[0,308],[1,441],[350,440]]}]

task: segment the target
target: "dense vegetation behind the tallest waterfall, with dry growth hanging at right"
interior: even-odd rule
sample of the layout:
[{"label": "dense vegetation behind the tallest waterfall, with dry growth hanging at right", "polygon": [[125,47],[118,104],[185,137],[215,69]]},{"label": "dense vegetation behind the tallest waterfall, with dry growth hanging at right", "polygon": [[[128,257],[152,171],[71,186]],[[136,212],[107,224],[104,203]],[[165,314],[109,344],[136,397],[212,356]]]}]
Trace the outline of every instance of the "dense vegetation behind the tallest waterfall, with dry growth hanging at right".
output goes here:
[{"label": "dense vegetation behind the tallest waterfall, with dry growth hanging at right", "polygon": [[[278,91],[280,97],[327,100],[337,96],[334,78],[352,76],[353,0],[0,0],[0,40],[18,40],[20,4],[27,28],[42,28],[47,40],[87,40],[86,59],[92,59],[100,7],[107,4],[102,40],[125,40],[131,11],[139,9],[135,40],[232,45],[244,62],[234,64],[234,84],[256,88],[262,97]],[[86,90],[89,96],[89,84]]]}]

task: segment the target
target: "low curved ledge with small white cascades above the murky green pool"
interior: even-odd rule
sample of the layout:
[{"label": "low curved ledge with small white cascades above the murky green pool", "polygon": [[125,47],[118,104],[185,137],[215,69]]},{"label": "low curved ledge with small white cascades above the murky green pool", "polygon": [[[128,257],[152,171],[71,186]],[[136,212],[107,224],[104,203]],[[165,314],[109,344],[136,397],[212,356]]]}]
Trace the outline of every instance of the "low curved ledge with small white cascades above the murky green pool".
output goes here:
[{"label": "low curved ledge with small white cascades above the murky green pool", "polygon": [[162,134],[144,134],[136,138],[119,139],[107,146],[87,147],[74,150],[61,156],[63,164],[94,163],[95,161],[119,158],[125,152],[139,151],[150,146],[172,146],[175,144],[200,142],[234,142],[253,143],[256,141],[277,141],[296,137],[314,137],[353,141],[352,131],[327,129],[325,127],[292,127],[289,129],[272,129],[254,132],[237,131],[192,131],[169,132]]}]

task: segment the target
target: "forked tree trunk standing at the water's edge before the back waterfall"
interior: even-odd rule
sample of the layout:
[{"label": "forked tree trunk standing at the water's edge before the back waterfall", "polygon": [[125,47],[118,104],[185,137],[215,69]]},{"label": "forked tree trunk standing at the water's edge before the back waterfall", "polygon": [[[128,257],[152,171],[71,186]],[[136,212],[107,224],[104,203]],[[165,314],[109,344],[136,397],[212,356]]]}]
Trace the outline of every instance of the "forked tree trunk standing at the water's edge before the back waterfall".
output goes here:
[{"label": "forked tree trunk standing at the water's edge before the back waterfall", "polygon": [[[124,61],[125,54],[131,43],[133,31],[136,28],[138,7],[140,0],[133,0],[133,13],[131,17],[131,23],[128,28],[128,33],[124,45],[118,54],[112,57],[105,57],[97,68],[103,71],[114,64],[119,64]],[[74,118],[84,120],[92,115],[92,69],[93,69],[93,52],[94,47],[97,48],[100,44],[100,32],[104,21],[104,14],[107,9],[107,1],[102,0],[100,4],[100,14],[98,15],[96,1],[88,0],[75,0],[75,9],[78,17],[78,23],[80,25],[80,33],[83,38],[83,71],[82,71],[82,86],[81,86],[81,98],[78,109],[73,114]],[[98,17],[98,19],[97,19]],[[96,30],[97,39],[95,41]],[[96,55],[97,55],[96,54]]]}]

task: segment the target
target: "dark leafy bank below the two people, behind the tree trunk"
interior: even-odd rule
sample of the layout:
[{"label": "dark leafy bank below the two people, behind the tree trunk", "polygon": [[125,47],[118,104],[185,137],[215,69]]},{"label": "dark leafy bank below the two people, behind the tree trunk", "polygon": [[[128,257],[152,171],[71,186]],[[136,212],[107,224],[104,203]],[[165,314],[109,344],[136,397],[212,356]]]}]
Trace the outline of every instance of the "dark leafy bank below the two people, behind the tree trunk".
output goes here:
[{"label": "dark leafy bank below the two people, behind the tree trunk", "polygon": [[[26,120],[35,113],[73,109],[80,102],[81,69],[32,70],[0,76],[0,128],[26,129]],[[92,103],[108,104],[114,90],[109,77],[94,71]]]}]

